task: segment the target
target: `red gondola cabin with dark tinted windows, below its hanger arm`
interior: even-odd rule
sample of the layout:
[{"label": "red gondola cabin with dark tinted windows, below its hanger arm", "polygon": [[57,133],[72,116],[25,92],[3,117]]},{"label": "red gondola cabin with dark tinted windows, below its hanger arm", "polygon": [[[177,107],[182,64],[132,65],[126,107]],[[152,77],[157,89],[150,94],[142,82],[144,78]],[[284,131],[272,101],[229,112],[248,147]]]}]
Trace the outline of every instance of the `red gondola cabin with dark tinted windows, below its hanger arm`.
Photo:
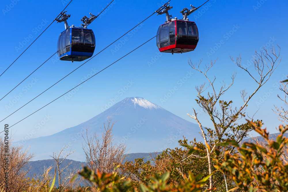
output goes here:
[{"label": "red gondola cabin with dark tinted windows, below its hanger arm", "polygon": [[185,53],[193,51],[199,41],[195,22],[173,20],[160,25],[156,43],[160,52]]}]

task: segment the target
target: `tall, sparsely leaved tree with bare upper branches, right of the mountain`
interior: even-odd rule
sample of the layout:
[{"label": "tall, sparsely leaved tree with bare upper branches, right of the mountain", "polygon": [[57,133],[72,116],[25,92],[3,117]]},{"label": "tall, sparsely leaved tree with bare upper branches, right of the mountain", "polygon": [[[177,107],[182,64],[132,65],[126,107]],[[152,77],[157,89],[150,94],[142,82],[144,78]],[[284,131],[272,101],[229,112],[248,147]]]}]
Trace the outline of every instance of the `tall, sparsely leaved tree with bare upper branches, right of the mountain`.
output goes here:
[{"label": "tall, sparsely leaved tree with bare upper branches, right of the mountain", "polygon": [[[219,142],[223,142],[225,140],[231,140],[235,139],[236,142],[240,142],[247,134],[252,130],[251,126],[249,123],[242,123],[238,124],[238,120],[242,119],[246,116],[245,110],[247,109],[247,104],[249,100],[255,95],[255,93],[261,88],[270,78],[274,70],[277,68],[278,64],[281,62],[281,59],[279,59],[280,56],[280,47],[279,48],[279,53],[276,54],[274,46],[268,52],[268,50],[264,47],[263,50],[260,52],[255,52],[255,56],[253,57],[253,64],[254,64],[254,69],[256,72],[256,75],[252,73],[250,70],[248,70],[248,66],[242,65],[241,61],[242,58],[241,56],[237,57],[234,59],[233,57],[230,56],[231,60],[241,69],[246,71],[248,75],[257,83],[257,87],[255,88],[254,92],[248,95],[248,92],[245,90],[242,90],[240,92],[240,96],[243,100],[243,104],[240,106],[240,108],[232,108],[232,101],[224,101],[220,100],[220,97],[233,85],[236,73],[232,74],[231,79],[232,82],[228,85],[223,81],[221,82],[221,87],[219,88],[219,91],[216,90],[215,86],[215,80],[216,77],[213,76],[210,80],[210,78],[207,75],[207,72],[211,69],[211,67],[215,64],[217,60],[214,60],[204,66],[204,71],[200,69],[200,63],[202,60],[198,62],[198,64],[192,63],[190,60],[189,65],[195,69],[196,71],[199,71],[202,73],[206,79],[209,82],[208,86],[205,86],[205,83],[196,87],[197,94],[198,94],[198,99],[196,99],[197,104],[204,110],[205,113],[207,113],[210,116],[210,119],[213,123],[213,128],[206,128],[207,134],[204,132],[201,123],[199,122],[197,118],[197,114],[194,110],[195,115],[189,115],[193,119],[197,121],[199,124],[200,130],[202,132],[202,137],[204,138],[205,144],[206,144],[206,152],[207,152],[207,159],[208,159],[208,166],[209,166],[209,174],[212,174],[212,166],[211,166],[211,154],[213,153],[213,150],[215,150],[217,144]],[[278,61],[278,63],[277,63]],[[206,97],[203,96],[202,94],[204,91],[208,90],[208,88],[211,89],[211,92],[207,92]],[[285,91],[284,91],[285,92]],[[286,92],[287,93],[287,92]],[[286,101],[286,96],[285,99]],[[219,107],[216,106],[217,102],[219,102]],[[279,110],[276,108],[278,113],[282,114],[282,118],[288,117],[288,112],[285,112],[284,110]],[[283,112],[284,111],[284,112]],[[286,116],[287,115],[287,116]],[[253,119],[252,119],[253,121]],[[215,132],[214,132],[215,131]],[[216,135],[215,135],[216,133]],[[207,138],[209,138],[209,143],[211,144],[212,149],[208,143]],[[225,150],[228,150],[226,147]],[[231,147],[228,151],[233,151],[234,148]],[[221,151],[221,150],[220,150]],[[225,175],[224,175],[225,177]],[[212,181],[212,176],[209,178],[209,183],[210,183],[210,188],[212,189],[213,186],[213,181]],[[226,188],[228,191],[228,189]]]}]

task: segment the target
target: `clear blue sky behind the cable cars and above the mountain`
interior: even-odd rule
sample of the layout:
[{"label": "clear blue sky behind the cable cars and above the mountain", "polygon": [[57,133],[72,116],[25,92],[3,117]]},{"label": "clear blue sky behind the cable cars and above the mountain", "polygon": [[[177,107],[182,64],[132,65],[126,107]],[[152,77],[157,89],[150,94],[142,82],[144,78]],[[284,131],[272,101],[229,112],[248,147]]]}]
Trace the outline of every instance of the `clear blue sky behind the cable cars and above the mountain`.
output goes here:
[{"label": "clear blue sky behind the cable cars and above the mountain", "polygon": [[[160,4],[163,4],[160,0],[114,1],[109,10],[103,12],[89,25],[96,37],[94,55],[151,15],[158,9]],[[180,11],[184,7],[189,8],[190,4],[198,7],[204,2],[204,0],[172,0],[170,5],[173,6],[173,9],[169,13],[173,17],[181,18]],[[68,24],[79,26],[81,24],[80,19],[84,15],[88,16],[90,12],[97,15],[107,3],[110,3],[110,1],[73,0],[66,8],[67,14],[71,14],[71,17],[67,20]],[[32,138],[54,134],[98,115],[106,104],[111,105],[111,103],[114,104],[126,97],[136,96],[143,97],[183,119],[196,123],[186,113],[192,114],[192,108],[195,108],[196,111],[200,110],[195,102],[197,96],[195,86],[202,84],[205,79],[203,75],[189,66],[189,59],[192,62],[203,59],[202,64],[207,64],[210,60],[218,58],[217,63],[208,73],[209,77],[216,77],[215,82],[217,83],[222,80],[229,83],[230,75],[236,71],[234,86],[223,99],[233,100],[233,106],[239,107],[242,104],[240,90],[246,88],[251,93],[257,85],[247,73],[241,71],[230,60],[230,55],[236,57],[241,54],[242,61],[245,64],[247,59],[252,58],[255,50],[259,51],[260,47],[266,45],[266,43],[269,46],[269,41],[273,41],[274,45],[281,46],[282,62],[266,85],[249,102],[247,113],[249,116],[253,116],[260,109],[254,118],[263,119],[268,129],[271,132],[276,132],[274,128],[280,124],[280,121],[277,120],[277,116],[272,109],[274,109],[274,104],[276,106],[284,105],[277,98],[277,94],[281,94],[278,85],[279,81],[288,74],[287,0],[210,0],[209,3],[209,6],[207,4],[207,6],[201,7],[188,17],[190,21],[196,22],[199,30],[199,43],[195,51],[185,54],[163,53],[161,55],[157,49],[156,40],[153,39],[87,81],[77,92],[73,92],[74,94],[66,94],[65,97],[59,98],[18,123],[12,128],[14,139],[16,141],[20,140],[27,134]],[[67,4],[67,0],[2,1],[0,20],[4,36],[1,39],[1,73],[28,47],[28,44],[30,45],[36,39]],[[143,26],[125,36],[127,37],[126,40],[128,39],[125,44],[123,43],[124,37],[122,38],[123,45],[120,44],[119,47],[121,48],[119,50],[115,46],[118,46],[121,43],[120,41],[94,57],[45,94],[5,119],[1,122],[1,126],[3,127],[5,123],[13,125],[81,83],[82,79],[85,79],[89,74],[102,70],[154,37],[159,25],[163,24],[165,20],[165,15],[157,16],[154,14],[143,23]],[[64,23],[54,22],[0,77],[2,82],[1,98],[56,52],[59,34],[64,29]],[[231,32],[231,30],[234,30],[234,32]],[[227,33],[232,35],[228,36]],[[17,47],[20,47],[19,43],[23,41],[27,43],[23,47],[21,46],[22,48],[19,50]],[[215,53],[212,52],[212,55],[207,54],[211,53],[211,48],[217,44],[219,45],[219,42],[224,43]],[[271,45],[268,48],[271,48]],[[116,52],[112,50],[116,50]],[[31,77],[0,101],[1,120],[83,63],[60,61],[56,60],[55,57],[46,62]],[[154,64],[149,65],[149,62],[154,62]],[[179,80],[183,79],[187,73],[193,73],[193,75],[181,85]],[[184,78],[184,80],[186,79]],[[132,86],[126,90],[125,86],[131,81]],[[175,86],[178,88],[177,91],[167,101],[161,102],[165,94]],[[272,90],[271,94],[265,97],[269,90]],[[118,98],[117,100],[113,100],[115,96]],[[264,102],[257,104],[261,98],[265,99]],[[14,102],[15,99],[18,100],[13,103],[11,108],[7,108],[13,99]],[[49,117],[49,120],[46,116]],[[198,117],[204,126],[211,125],[207,115],[199,114]],[[45,122],[44,120],[48,121]],[[40,128],[36,128],[35,125],[41,121],[42,124],[43,122],[45,124],[41,125]],[[31,134],[33,130],[35,131]]]}]

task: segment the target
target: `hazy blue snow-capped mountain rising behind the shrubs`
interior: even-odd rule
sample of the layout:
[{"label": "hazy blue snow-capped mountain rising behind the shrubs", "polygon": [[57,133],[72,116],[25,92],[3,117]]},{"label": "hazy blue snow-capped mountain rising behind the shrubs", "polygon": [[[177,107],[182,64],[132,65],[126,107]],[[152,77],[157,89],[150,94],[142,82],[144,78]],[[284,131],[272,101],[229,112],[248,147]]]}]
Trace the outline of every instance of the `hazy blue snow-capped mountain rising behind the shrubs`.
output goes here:
[{"label": "hazy blue snow-capped mountain rising behind the shrubs", "polygon": [[31,146],[29,153],[35,154],[33,160],[51,159],[53,152],[58,153],[64,145],[70,144],[71,150],[76,151],[69,155],[69,159],[84,161],[82,134],[85,135],[88,128],[88,135],[93,135],[93,132],[101,135],[100,127],[103,128],[103,123],[109,117],[115,121],[114,142],[125,143],[128,153],[159,152],[179,147],[178,140],[183,139],[183,135],[188,140],[202,140],[198,124],[186,121],[144,98],[127,97],[75,127],[50,136],[30,139],[25,144],[21,141],[16,143]]}]

